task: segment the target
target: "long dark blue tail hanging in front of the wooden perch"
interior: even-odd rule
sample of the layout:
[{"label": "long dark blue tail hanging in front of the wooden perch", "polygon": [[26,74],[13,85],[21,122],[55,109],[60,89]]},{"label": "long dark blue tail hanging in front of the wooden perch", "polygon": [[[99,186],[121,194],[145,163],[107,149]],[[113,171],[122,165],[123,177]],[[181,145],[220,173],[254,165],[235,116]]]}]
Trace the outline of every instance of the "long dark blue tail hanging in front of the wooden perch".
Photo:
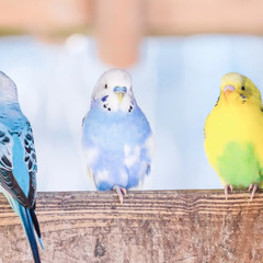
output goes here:
[{"label": "long dark blue tail hanging in front of the wooden perch", "polygon": [[37,243],[36,243],[36,239],[35,239],[35,233],[34,233],[34,226],[35,226],[35,230],[36,233],[38,236],[38,240],[39,240],[39,244],[43,249],[43,243],[42,243],[42,239],[41,239],[41,231],[39,231],[39,226],[36,219],[36,215],[34,209],[28,209],[22,205],[19,205],[19,216],[21,218],[23,228],[25,230],[27,240],[30,242],[31,245],[31,250],[34,256],[34,261],[35,263],[41,263],[41,258],[39,258],[39,253],[38,253],[38,249],[37,249]]}]

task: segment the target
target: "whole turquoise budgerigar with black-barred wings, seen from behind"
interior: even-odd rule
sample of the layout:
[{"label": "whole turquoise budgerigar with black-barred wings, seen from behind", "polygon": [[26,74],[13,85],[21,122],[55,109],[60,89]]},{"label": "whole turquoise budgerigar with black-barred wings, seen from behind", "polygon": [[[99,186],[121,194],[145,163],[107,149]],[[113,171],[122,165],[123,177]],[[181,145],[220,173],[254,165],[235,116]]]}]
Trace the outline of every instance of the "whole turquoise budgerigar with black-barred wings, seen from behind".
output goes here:
[{"label": "whole turquoise budgerigar with black-barred wings, seen from behind", "polygon": [[0,186],[21,219],[34,262],[39,263],[35,232],[44,247],[35,215],[36,172],[31,124],[21,111],[14,81],[0,71]]}]

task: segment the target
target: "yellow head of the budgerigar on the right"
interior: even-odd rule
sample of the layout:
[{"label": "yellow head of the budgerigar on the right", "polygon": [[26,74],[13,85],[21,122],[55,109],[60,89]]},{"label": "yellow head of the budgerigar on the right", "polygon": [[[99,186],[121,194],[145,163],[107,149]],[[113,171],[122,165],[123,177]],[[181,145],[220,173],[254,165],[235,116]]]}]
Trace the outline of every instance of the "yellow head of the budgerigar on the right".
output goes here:
[{"label": "yellow head of the budgerigar on the right", "polygon": [[245,76],[239,73],[227,73],[220,82],[220,100],[227,103],[251,103],[262,104],[261,93],[255,84]]}]

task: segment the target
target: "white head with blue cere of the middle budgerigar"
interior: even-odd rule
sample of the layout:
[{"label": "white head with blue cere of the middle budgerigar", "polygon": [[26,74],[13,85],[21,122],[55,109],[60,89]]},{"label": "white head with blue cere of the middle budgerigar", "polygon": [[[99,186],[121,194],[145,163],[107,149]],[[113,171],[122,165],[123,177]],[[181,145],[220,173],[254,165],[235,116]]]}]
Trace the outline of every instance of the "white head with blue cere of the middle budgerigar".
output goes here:
[{"label": "white head with blue cere of the middle budgerigar", "polygon": [[129,112],[135,102],[132,77],[123,69],[111,69],[98,80],[92,101],[99,101],[107,112]]}]

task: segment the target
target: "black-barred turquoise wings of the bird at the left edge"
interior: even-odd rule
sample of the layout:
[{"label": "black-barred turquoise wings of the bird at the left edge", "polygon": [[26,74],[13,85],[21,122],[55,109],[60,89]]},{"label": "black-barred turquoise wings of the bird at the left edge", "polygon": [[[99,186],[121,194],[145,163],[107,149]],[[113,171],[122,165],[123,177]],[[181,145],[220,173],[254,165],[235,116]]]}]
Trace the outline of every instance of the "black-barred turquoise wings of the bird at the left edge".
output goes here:
[{"label": "black-barred turquoise wings of the bird at the left edge", "polygon": [[[21,163],[14,163],[16,160]],[[20,133],[11,133],[5,125],[0,124],[0,184],[21,205],[28,208],[35,202],[36,171],[30,123]]]}]

